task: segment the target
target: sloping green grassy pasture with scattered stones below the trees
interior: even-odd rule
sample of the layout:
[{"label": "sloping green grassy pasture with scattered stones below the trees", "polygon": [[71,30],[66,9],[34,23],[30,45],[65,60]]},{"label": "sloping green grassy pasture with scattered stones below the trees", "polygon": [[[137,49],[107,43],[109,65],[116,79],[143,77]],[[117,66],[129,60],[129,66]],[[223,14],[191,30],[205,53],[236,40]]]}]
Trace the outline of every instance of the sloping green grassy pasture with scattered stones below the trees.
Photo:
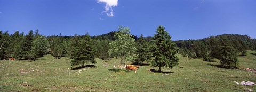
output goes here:
[{"label": "sloping green grassy pasture with scattered stones below the trees", "polygon": [[[256,56],[247,51],[239,56],[241,69],[218,68],[218,62],[179,57],[179,65],[163,68],[164,73],[147,71],[145,64],[137,73],[113,68],[120,60],[71,68],[69,58],[54,59],[47,55],[38,61],[0,61],[0,91],[256,91],[256,85],[242,86],[234,81],[256,82]],[[155,68],[156,70],[158,68]],[[79,73],[79,71],[81,73]]]}]

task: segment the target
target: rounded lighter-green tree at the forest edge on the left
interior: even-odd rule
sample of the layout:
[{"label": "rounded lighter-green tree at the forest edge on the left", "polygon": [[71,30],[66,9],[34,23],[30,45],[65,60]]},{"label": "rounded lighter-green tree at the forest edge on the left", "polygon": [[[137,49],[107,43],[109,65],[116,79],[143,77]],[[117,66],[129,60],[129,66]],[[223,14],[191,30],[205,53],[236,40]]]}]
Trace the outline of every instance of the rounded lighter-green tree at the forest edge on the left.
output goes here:
[{"label": "rounded lighter-green tree at the forest edge on the left", "polygon": [[50,52],[49,41],[42,35],[38,35],[37,38],[32,42],[31,51],[28,54],[29,61],[37,60],[40,57],[43,57],[45,54]]}]

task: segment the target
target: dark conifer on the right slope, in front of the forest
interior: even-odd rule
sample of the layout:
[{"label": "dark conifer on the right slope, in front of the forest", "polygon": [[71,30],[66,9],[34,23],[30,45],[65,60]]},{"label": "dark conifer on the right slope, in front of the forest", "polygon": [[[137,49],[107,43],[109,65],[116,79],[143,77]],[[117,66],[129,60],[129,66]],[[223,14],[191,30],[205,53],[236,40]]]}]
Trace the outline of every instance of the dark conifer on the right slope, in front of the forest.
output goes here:
[{"label": "dark conifer on the right slope, in front of the forest", "polygon": [[227,68],[237,68],[238,58],[237,52],[232,47],[230,41],[226,36],[221,36],[221,57],[220,65]]}]

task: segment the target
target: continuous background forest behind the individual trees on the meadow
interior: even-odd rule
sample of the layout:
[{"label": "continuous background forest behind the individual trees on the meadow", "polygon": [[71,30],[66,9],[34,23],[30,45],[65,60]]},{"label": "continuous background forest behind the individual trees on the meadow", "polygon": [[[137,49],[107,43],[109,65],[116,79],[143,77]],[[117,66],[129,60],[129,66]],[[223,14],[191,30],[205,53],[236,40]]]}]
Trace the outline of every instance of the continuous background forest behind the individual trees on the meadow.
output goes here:
[{"label": "continuous background forest behind the individual trees on the meadow", "polygon": [[[108,53],[110,49],[109,43],[116,40],[114,37],[116,31],[109,32],[107,34],[102,34],[98,36],[92,36],[92,43],[94,49],[94,56],[103,60],[109,59],[111,56]],[[33,49],[33,45],[39,43],[33,43],[39,34],[39,30],[33,32],[32,30],[25,35],[25,33],[20,33],[19,31],[14,34],[9,34],[8,31],[3,32],[0,31],[0,58],[17,58],[17,59],[36,59],[33,57],[33,53],[31,50]],[[46,39],[49,42],[50,50],[44,54],[51,54],[55,58],[61,58],[65,56],[71,56],[74,52],[74,43],[75,41],[79,41],[85,38],[85,35],[77,35],[74,36],[61,36],[60,35],[51,35],[47,36]],[[139,38],[137,36],[132,35],[132,38],[136,40],[136,44],[138,44]],[[147,51],[150,51],[150,47],[154,44],[151,40],[152,37],[142,37],[146,40],[145,45]],[[222,42],[223,38],[227,38],[228,43],[230,43],[231,47],[234,48],[236,52],[240,52],[242,56],[245,56],[246,50],[256,50],[256,39],[252,39],[247,35],[239,35],[239,34],[223,34],[218,36],[210,36],[209,38],[200,39],[200,40],[178,40],[174,41],[176,45],[179,47],[179,53],[183,55],[183,57],[188,56],[188,58],[204,58],[204,60],[217,58],[220,59],[222,56],[221,48],[224,43]],[[40,41],[39,41],[40,42]],[[42,45],[42,44],[41,44]],[[136,45],[137,48],[138,45]],[[148,52],[151,53],[151,52]],[[44,54],[41,54],[43,56]],[[36,56],[34,54],[34,56]],[[37,57],[38,58],[38,57]]]}]

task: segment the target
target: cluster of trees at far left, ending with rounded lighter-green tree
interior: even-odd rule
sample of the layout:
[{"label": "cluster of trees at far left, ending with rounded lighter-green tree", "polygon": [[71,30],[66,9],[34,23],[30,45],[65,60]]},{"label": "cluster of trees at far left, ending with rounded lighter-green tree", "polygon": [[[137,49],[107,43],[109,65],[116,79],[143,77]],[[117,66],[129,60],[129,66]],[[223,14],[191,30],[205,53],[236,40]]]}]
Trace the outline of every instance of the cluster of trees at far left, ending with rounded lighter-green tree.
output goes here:
[{"label": "cluster of trees at far left, ending with rounded lighter-green tree", "polygon": [[19,58],[36,60],[50,51],[50,45],[45,36],[39,35],[39,31],[29,31],[27,35],[16,31],[9,35],[8,31],[0,31],[0,58]]}]

